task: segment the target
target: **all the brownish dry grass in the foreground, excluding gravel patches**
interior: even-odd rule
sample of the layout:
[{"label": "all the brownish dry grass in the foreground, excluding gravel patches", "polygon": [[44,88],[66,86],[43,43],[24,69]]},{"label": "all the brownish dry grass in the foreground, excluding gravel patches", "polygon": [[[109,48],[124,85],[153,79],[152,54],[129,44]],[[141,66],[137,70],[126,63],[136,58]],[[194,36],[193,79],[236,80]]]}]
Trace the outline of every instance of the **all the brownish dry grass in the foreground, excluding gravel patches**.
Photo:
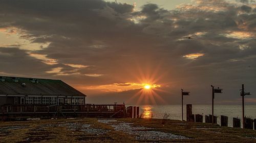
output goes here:
[{"label": "all the brownish dry grass in the foreground, excluding gravel patches", "polygon": [[[118,118],[118,121],[134,123],[134,126],[154,128],[156,131],[183,135],[190,139],[161,140],[161,142],[256,142],[256,131],[220,127],[207,123],[186,123],[178,120],[143,118]],[[80,130],[58,126],[65,123],[90,124],[92,128],[110,130],[106,134],[96,135]],[[51,125],[51,126],[48,126]],[[16,129],[9,129],[16,127]],[[38,120],[20,122],[0,122],[0,142],[148,142],[136,140],[134,136],[115,131],[108,124],[97,122],[97,118],[75,118],[57,120]]]}]

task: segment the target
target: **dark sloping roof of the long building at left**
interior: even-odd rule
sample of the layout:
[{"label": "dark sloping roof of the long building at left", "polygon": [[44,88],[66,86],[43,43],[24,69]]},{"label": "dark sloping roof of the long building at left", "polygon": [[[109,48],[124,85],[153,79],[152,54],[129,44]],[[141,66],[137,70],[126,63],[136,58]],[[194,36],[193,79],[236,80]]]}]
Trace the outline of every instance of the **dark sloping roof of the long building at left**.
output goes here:
[{"label": "dark sloping roof of the long building at left", "polygon": [[6,76],[0,76],[0,94],[86,96],[61,80]]}]

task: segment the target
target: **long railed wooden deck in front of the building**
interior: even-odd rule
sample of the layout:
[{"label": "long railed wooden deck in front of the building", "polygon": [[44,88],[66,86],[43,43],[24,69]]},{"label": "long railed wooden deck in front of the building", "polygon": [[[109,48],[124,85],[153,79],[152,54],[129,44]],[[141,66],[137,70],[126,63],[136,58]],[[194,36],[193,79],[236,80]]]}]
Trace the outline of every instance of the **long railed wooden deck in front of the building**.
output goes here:
[{"label": "long railed wooden deck in front of the building", "polygon": [[126,117],[124,104],[106,105],[4,105],[0,107],[4,117]]}]

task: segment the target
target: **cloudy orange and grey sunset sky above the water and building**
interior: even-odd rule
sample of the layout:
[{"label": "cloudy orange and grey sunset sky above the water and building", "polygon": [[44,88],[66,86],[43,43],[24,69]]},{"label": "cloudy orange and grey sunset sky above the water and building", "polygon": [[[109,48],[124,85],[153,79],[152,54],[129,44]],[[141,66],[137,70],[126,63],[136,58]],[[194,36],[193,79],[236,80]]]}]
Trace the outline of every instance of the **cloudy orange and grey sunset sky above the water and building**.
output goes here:
[{"label": "cloudy orange and grey sunset sky above the water and building", "polygon": [[[0,0],[0,75],[60,79],[87,103],[256,104],[256,2]],[[151,86],[150,89],[144,88]]]}]

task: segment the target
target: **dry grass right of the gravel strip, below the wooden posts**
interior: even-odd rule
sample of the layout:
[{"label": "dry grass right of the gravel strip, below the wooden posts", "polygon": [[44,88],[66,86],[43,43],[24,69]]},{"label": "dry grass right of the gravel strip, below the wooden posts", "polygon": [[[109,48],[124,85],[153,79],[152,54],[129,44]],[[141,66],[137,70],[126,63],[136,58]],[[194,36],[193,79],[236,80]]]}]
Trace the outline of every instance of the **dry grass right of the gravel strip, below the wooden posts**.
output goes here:
[{"label": "dry grass right of the gravel strip, below the wooden posts", "polygon": [[[134,123],[144,127],[155,128],[157,131],[187,136],[191,139],[176,140],[188,142],[256,142],[256,131],[220,127],[207,123],[187,123],[178,120],[166,120],[163,125],[161,119],[121,118],[119,121]],[[254,137],[250,138],[250,137]]]}]

